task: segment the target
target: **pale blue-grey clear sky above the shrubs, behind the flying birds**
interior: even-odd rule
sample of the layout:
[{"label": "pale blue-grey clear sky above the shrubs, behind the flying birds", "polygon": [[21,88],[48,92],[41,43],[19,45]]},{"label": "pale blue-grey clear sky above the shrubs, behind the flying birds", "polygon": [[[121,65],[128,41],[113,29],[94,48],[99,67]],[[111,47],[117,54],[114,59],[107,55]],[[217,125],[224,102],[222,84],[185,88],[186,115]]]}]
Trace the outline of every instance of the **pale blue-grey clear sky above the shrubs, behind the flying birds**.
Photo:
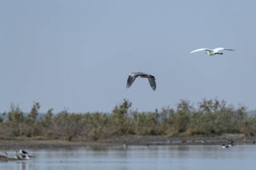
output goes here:
[{"label": "pale blue-grey clear sky above the shrubs, behind the flying birds", "polygon": [[[256,1],[0,0],[0,112],[139,111],[218,97],[255,110]],[[234,48],[209,57],[197,48]],[[130,89],[131,71],[156,77]]]}]

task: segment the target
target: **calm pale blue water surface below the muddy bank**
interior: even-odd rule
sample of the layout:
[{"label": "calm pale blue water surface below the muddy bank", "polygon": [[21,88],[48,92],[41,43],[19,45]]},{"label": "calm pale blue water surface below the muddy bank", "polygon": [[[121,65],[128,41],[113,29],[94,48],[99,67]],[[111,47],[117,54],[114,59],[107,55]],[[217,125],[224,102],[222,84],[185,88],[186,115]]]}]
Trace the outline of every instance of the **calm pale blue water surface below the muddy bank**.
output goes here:
[{"label": "calm pale blue water surface below the muddy bank", "polygon": [[[25,148],[24,148],[25,149]],[[108,146],[57,150],[25,149],[36,159],[0,161],[5,170],[51,169],[256,169],[256,145]],[[11,155],[11,151],[9,151]]]}]

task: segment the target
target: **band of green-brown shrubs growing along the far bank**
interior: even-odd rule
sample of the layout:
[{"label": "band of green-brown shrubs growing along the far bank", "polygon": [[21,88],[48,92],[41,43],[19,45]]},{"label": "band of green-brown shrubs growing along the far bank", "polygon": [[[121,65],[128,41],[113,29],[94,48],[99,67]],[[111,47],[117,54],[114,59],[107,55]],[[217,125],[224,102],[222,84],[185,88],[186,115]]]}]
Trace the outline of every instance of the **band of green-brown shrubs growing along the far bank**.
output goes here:
[{"label": "band of green-brown shrubs growing along the far bank", "polygon": [[241,133],[254,136],[256,117],[249,115],[245,106],[227,105],[218,99],[202,99],[196,107],[183,99],[177,108],[162,108],[161,111],[137,112],[131,109],[127,99],[113,108],[110,114],[94,112],[76,114],[63,110],[57,114],[50,108],[38,118],[40,103],[33,103],[30,113],[24,114],[18,105],[1,118],[0,137],[82,137],[86,140],[103,140],[121,135],[166,135],[166,136],[215,136],[224,133]]}]

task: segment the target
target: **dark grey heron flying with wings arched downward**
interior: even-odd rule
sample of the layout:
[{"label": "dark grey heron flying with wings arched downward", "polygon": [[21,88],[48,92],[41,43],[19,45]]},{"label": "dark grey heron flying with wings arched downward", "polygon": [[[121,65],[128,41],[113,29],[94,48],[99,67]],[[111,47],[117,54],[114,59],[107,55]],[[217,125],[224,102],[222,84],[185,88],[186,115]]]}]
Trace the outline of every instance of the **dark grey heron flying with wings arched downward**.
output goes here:
[{"label": "dark grey heron flying with wings arched downward", "polygon": [[150,86],[152,87],[152,89],[155,91],[156,90],[156,79],[154,76],[147,74],[147,73],[142,73],[142,72],[132,72],[129,74],[129,77],[127,79],[127,86],[126,88],[128,89],[129,87],[131,87],[131,85],[133,84],[133,81],[135,81],[135,79],[137,77],[141,77],[141,78],[148,78],[148,81],[150,82]]}]

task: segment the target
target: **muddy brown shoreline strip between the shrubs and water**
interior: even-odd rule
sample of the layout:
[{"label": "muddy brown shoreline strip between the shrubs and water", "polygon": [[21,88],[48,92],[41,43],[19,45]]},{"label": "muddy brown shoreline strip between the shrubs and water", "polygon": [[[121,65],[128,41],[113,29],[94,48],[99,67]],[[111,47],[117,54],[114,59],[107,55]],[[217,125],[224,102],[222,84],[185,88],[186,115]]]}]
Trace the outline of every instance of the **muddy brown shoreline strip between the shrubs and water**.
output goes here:
[{"label": "muddy brown shoreline strip between the shrubs and water", "polygon": [[255,144],[256,138],[246,137],[243,134],[224,134],[213,137],[168,137],[168,136],[115,136],[105,140],[87,141],[83,138],[74,138],[73,140],[64,139],[14,139],[0,140],[0,149],[11,148],[13,150],[20,148],[74,148],[74,147],[102,147],[102,146],[123,146],[126,145],[209,145],[224,144],[228,140],[233,140],[236,144]]}]

